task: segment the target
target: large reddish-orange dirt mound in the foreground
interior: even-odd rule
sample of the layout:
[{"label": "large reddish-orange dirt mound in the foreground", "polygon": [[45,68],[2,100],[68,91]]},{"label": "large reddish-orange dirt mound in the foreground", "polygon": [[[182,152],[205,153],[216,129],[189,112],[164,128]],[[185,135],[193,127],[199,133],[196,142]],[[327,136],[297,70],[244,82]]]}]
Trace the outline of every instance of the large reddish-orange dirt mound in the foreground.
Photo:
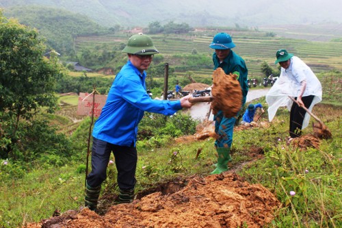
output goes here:
[{"label": "large reddish-orange dirt mound in the foreground", "polygon": [[[169,191],[170,192],[170,191]],[[85,208],[33,227],[264,227],[280,206],[274,194],[235,173],[191,177],[173,193],[154,192],[133,203],[114,205],[100,216]]]}]

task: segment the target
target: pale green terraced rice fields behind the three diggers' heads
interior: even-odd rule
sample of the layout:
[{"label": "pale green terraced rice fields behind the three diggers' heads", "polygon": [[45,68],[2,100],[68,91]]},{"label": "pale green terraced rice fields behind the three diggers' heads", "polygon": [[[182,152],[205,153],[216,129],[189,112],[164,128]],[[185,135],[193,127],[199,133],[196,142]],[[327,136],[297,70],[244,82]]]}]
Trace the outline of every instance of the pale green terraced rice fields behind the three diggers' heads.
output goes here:
[{"label": "pale green terraced rice fields behind the three diggers' heads", "polygon": [[[114,49],[125,44],[130,34],[118,34],[116,36],[87,36],[77,38],[75,48],[80,51],[82,48],[96,50]],[[191,54],[196,49],[198,54],[205,54],[211,57],[213,49],[209,48],[213,36],[189,36],[189,35],[153,35],[155,47],[164,56],[176,54]],[[315,73],[336,69],[342,71],[342,44],[341,42],[313,42],[307,40],[295,40],[278,37],[265,37],[260,33],[245,32],[233,36],[236,47],[233,49],[239,54],[248,66],[250,78],[261,77],[260,66],[266,61],[270,66],[274,65],[275,53],[278,49],[287,49],[302,58],[306,64],[311,66]],[[181,71],[185,71],[181,67]],[[189,69],[193,71],[193,69]],[[203,73],[205,71],[205,73]],[[196,75],[206,75],[206,67],[198,66],[193,71]],[[181,74],[180,70],[176,74]]]}]

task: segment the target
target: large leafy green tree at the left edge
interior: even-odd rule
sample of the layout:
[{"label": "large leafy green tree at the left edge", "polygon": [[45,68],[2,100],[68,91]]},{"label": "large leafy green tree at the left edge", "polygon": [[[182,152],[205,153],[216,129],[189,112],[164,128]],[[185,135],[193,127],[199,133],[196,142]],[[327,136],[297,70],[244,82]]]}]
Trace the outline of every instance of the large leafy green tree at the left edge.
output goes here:
[{"label": "large leafy green tree at the left edge", "polygon": [[50,58],[43,56],[45,48],[38,31],[0,12],[0,126],[12,126],[12,133],[1,135],[0,144],[3,137],[16,143],[21,119],[30,121],[40,107],[47,112],[57,107],[54,90],[57,79],[65,76],[64,68],[55,51]]}]

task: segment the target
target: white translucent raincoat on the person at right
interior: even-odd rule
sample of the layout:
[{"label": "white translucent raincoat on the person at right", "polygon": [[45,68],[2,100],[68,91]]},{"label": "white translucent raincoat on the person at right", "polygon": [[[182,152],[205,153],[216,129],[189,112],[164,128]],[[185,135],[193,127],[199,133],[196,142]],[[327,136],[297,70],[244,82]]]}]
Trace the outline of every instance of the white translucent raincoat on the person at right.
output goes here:
[{"label": "white translucent raincoat on the person at right", "polygon": [[[293,101],[290,97],[298,97],[300,94],[300,82],[306,79],[306,89],[302,97],[309,95],[315,95],[313,102],[308,110],[312,110],[316,103],[319,103],[322,98],[321,83],[317,79],[316,75],[311,71],[300,58],[293,56],[291,58],[291,64],[289,68],[281,68],[279,79],[272,86],[272,88],[266,94],[266,102],[268,107],[269,122],[272,121],[276,115],[276,111],[279,107],[287,106],[290,111]],[[310,115],[308,113],[304,116],[302,129],[308,126]]]}]

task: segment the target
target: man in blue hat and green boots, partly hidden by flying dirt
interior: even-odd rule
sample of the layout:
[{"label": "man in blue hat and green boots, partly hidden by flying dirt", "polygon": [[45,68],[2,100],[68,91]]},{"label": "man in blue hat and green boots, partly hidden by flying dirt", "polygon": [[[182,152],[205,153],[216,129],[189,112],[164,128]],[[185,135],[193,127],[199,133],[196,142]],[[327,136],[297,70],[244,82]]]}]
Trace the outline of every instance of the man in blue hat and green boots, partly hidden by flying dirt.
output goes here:
[{"label": "man in blue hat and green boots, partly hidden by flying dirt", "polygon": [[[232,73],[238,76],[237,80],[241,86],[243,97],[241,107],[244,106],[248,92],[248,69],[245,61],[231,50],[235,47],[231,36],[223,32],[216,34],[209,47],[215,49],[213,53],[214,70],[220,67],[224,70],[226,75]],[[215,132],[219,136],[215,141],[215,148],[218,152],[218,163],[211,174],[220,174],[228,170],[227,163],[231,161],[230,150],[233,142],[233,129],[236,120],[237,116],[226,118],[222,110],[219,110],[214,116]]]}]

